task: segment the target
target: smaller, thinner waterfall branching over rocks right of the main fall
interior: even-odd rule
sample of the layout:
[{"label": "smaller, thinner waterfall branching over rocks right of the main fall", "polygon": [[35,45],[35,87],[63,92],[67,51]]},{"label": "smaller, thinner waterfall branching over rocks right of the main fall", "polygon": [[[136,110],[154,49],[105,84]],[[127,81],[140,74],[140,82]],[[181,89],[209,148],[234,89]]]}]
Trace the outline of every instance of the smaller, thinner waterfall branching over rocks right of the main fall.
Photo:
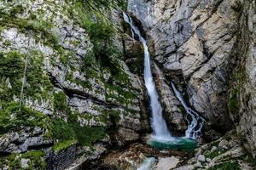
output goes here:
[{"label": "smaller, thinner waterfall branching over rocks right of the main fall", "polygon": [[[187,115],[185,116],[185,119],[189,125],[185,133],[185,138],[196,139],[197,137],[201,136],[201,128],[203,127],[205,120],[201,118],[201,116],[199,116],[198,113],[196,113],[191,108],[189,108],[189,106],[186,104],[186,102],[183,99],[183,95],[179,91],[177,91],[177,88],[175,87],[173,82],[172,82],[172,89],[177,99],[181,102],[181,104],[183,105],[183,108],[187,113]],[[189,121],[189,117],[191,121]]]}]

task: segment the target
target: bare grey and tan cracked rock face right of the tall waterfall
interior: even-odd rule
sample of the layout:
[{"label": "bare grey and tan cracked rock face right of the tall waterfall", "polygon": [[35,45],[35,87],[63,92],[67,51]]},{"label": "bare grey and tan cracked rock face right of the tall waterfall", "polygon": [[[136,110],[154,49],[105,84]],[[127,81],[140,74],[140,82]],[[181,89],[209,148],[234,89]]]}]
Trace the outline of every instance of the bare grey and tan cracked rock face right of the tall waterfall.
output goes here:
[{"label": "bare grey and tan cracked rock face right of the tall waterfall", "polygon": [[213,126],[231,127],[226,94],[241,2],[131,0],[128,8],[154,42],[166,77],[185,84],[190,105]]}]

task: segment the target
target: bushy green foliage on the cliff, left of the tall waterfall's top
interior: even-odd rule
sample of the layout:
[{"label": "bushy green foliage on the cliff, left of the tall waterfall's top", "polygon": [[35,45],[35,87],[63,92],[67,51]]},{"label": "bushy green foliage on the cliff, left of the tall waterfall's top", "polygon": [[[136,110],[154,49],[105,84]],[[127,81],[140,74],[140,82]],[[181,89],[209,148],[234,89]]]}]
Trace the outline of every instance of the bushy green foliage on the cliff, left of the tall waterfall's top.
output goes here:
[{"label": "bushy green foliage on the cliff, left of the tall waterfall's top", "polygon": [[[101,3],[98,1],[90,2],[93,4]],[[106,4],[109,4],[109,2]],[[75,20],[80,26],[84,27],[90,37],[90,41],[94,45],[94,54],[89,54],[89,60],[93,60],[96,57],[96,59],[101,61],[102,66],[108,65],[111,67],[110,57],[118,53],[112,41],[115,30],[106,16],[101,12],[88,10],[86,5],[90,5],[90,3],[81,1],[74,3],[73,7],[69,8],[69,13],[73,14],[76,12],[78,14],[79,17],[75,18]],[[87,64],[90,65],[90,62],[86,63],[85,61],[85,65]]]}]

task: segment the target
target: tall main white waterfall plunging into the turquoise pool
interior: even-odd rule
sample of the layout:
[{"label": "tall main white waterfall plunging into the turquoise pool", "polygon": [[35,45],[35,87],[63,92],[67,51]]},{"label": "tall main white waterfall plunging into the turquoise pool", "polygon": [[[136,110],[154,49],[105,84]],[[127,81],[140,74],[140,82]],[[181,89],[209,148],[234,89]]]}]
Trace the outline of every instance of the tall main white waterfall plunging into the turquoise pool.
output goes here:
[{"label": "tall main white waterfall plunging into the turquoise pool", "polygon": [[169,132],[166,121],[162,116],[162,107],[159,101],[159,95],[157,94],[152,72],[150,68],[150,55],[148,52],[147,41],[142,37],[141,32],[134,26],[131,17],[123,13],[124,20],[131,26],[132,34],[136,34],[139,37],[140,42],[143,43],[144,48],[144,82],[150,98],[150,108],[152,112],[151,127],[153,129],[153,139],[158,140],[171,140],[172,134]]}]

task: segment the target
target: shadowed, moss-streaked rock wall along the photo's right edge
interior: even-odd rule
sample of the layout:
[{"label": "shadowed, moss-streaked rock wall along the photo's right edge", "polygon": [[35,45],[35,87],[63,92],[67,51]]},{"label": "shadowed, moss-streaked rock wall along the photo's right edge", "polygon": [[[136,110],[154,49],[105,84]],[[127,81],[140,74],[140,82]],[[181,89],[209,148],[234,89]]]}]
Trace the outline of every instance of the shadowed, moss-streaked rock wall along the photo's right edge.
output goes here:
[{"label": "shadowed, moss-streaked rock wall along the photo's right edge", "polygon": [[256,157],[256,3],[248,1],[241,16],[241,42],[239,59],[230,85],[230,117],[236,123],[237,132],[246,140],[247,150]]}]

